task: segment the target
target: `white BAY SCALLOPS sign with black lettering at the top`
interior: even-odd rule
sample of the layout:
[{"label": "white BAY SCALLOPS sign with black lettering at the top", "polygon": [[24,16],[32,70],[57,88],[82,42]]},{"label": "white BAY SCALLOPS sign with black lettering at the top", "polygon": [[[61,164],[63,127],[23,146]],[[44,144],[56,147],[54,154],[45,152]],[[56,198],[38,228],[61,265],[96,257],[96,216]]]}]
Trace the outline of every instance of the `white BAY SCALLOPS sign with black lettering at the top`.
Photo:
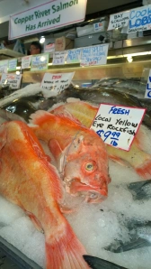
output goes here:
[{"label": "white BAY SCALLOPS sign with black lettering at the top", "polygon": [[111,14],[108,31],[127,26],[129,23],[129,14],[129,11],[120,12],[118,14]]}]

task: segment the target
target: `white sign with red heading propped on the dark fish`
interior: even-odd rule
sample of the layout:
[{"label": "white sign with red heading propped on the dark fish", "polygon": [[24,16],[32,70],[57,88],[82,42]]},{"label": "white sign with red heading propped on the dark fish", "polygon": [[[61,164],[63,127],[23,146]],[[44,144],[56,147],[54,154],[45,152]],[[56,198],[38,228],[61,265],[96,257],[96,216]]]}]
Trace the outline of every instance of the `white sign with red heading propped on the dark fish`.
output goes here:
[{"label": "white sign with red heading propped on the dark fish", "polygon": [[45,73],[40,88],[47,88],[56,93],[61,92],[70,85],[74,74],[75,72],[58,74]]}]

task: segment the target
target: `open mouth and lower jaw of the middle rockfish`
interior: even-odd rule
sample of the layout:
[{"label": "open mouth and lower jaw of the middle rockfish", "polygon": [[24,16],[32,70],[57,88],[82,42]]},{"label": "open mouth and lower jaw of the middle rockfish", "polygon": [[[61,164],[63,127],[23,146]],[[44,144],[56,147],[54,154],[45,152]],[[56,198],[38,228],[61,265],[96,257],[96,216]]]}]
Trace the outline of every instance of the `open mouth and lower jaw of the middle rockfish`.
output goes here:
[{"label": "open mouth and lower jaw of the middle rockfish", "polygon": [[100,188],[94,188],[75,179],[67,181],[66,190],[73,196],[83,196],[85,198],[84,201],[88,203],[99,203],[108,196],[108,187],[105,183]]}]

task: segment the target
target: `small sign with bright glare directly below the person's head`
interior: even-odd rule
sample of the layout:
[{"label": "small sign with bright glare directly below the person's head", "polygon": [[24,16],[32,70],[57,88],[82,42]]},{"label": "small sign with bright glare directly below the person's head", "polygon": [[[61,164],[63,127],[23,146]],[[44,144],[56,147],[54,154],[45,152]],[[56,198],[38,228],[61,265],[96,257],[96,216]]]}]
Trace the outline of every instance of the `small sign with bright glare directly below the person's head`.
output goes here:
[{"label": "small sign with bright glare directly below the person's head", "polygon": [[31,71],[48,70],[49,53],[32,55]]}]

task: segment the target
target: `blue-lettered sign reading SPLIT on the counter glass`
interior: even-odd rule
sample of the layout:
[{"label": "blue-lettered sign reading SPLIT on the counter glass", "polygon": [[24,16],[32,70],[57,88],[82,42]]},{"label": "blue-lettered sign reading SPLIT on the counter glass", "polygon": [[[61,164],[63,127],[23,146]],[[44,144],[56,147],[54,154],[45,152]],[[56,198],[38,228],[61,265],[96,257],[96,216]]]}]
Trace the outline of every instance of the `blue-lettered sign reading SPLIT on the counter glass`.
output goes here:
[{"label": "blue-lettered sign reading SPLIT on the counter glass", "polygon": [[109,44],[82,48],[81,66],[106,64]]}]

